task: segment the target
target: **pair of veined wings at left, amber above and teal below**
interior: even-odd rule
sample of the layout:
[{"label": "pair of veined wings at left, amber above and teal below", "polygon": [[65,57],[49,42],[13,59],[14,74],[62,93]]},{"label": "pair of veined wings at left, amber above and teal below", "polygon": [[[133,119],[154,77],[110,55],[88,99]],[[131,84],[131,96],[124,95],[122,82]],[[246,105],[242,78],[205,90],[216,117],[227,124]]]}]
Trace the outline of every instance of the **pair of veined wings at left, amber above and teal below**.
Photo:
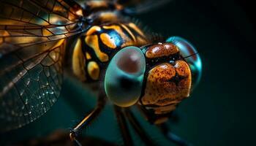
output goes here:
[{"label": "pair of veined wings at left, amber above and teal below", "polygon": [[86,31],[67,0],[0,0],[0,131],[43,115],[59,96],[66,40]]}]

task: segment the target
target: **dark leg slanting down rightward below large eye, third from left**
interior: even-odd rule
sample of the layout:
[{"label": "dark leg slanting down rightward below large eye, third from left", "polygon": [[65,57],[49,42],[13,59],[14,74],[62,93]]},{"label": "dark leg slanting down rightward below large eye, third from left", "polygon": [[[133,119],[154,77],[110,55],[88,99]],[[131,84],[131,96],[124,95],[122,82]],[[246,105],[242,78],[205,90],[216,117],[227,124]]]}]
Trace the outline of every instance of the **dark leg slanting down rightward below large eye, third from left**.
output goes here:
[{"label": "dark leg slanting down rightward below large eye, third from left", "polygon": [[132,127],[135,129],[136,133],[140,136],[140,139],[142,139],[143,142],[146,143],[146,145],[155,145],[152,139],[148,137],[148,134],[146,134],[146,131],[144,131],[142,126],[140,126],[140,123],[135,118],[135,115],[133,115],[132,111],[129,108],[126,108],[124,110],[125,110],[125,114],[127,115],[127,119],[129,120],[129,123],[132,124]]}]

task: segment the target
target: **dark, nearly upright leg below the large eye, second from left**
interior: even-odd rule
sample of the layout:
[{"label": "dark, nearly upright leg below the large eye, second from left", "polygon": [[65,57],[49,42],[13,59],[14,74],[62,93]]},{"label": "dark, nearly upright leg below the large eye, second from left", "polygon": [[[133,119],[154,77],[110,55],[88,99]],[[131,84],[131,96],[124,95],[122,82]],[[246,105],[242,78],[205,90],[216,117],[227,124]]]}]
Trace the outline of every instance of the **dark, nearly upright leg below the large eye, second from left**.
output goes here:
[{"label": "dark, nearly upright leg below the large eye, second from left", "polygon": [[124,145],[133,145],[132,137],[129,133],[129,128],[127,126],[127,121],[125,120],[124,113],[121,111],[121,107],[114,106],[116,112],[116,119],[118,121],[118,126],[121,130],[121,134],[124,140]]}]

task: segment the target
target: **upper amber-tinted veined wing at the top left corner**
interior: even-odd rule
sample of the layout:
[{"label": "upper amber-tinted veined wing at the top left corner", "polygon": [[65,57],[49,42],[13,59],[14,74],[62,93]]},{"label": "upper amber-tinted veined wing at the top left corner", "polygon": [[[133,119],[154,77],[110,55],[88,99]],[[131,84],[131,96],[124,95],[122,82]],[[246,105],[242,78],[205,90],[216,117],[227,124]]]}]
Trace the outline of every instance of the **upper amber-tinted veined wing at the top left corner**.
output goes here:
[{"label": "upper amber-tinted veined wing at the top left corner", "polygon": [[64,0],[0,0],[0,43],[24,47],[67,38],[86,29],[81,15],[78,4]]}]

